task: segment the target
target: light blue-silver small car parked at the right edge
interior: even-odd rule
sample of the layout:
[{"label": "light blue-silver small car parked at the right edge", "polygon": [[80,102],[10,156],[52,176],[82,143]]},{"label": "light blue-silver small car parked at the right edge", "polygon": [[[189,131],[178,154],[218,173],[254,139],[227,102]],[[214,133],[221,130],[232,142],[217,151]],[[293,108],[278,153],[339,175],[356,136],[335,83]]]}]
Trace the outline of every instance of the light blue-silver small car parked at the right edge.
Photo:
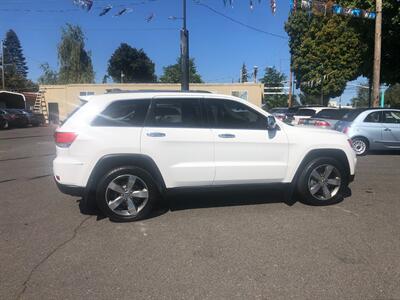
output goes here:
[{"label": "light blue-silver small car parked at the right edge", "polygon": [[335,129],[351,138],[357,155],[400,149],[400,109],[355,109],[345,114]]}]

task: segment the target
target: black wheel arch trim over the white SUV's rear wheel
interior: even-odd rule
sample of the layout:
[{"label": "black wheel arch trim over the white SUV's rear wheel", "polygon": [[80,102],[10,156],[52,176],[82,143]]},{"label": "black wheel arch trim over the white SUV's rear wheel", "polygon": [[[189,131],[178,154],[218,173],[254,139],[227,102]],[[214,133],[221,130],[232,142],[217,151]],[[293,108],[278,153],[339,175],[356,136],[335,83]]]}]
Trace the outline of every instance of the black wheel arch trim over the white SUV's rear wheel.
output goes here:
[{"label": "black wheel arch trim over the white SUV's rear wheel", "polygon": [[144,154],[109,154],[105,155],[99,159],[93,168],[89,180],[87,188],[89,190],[93,190],[96,186],[96,183],[107,171],[112,168],[122,167],[122,166],[135,166],[142,168],[150,173],[153,177],[157,189],[161,194],[163,194],[166,190],[164,179],[161,175],[160,170],[158,169],[154,160]]}]

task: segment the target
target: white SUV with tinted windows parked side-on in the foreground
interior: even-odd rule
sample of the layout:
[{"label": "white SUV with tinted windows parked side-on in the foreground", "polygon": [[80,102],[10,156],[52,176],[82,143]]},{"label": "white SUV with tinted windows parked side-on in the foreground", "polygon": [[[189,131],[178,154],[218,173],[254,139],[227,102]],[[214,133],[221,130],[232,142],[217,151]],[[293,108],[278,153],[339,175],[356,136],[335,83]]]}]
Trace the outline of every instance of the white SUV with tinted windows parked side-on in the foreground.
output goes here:
[{"label": "white SUV with tinted windows parked side-on in the foreground", "polygon": [[244,100],[199,92],[90,96],[55,133],[59,189],[95,192],[115,220],[137,220],[167,191],[279,184],[313,205],[333,204],[354,178],[342,133],[297,128]]}]

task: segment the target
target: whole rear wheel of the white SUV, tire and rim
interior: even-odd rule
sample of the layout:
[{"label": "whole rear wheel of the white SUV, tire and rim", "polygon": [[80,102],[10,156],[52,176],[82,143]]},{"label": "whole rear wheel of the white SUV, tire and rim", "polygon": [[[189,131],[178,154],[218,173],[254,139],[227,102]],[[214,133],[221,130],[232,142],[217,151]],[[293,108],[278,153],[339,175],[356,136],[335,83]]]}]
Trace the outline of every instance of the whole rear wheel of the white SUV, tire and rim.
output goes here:
[{"label": "whole rear wheel of the white SUV, tire and rim", "polygon": [[151,175],[137,167],[119,167],[100,180],[96,202],[101,211],[116,221],[135,221],[149,215],[158,198]]}]

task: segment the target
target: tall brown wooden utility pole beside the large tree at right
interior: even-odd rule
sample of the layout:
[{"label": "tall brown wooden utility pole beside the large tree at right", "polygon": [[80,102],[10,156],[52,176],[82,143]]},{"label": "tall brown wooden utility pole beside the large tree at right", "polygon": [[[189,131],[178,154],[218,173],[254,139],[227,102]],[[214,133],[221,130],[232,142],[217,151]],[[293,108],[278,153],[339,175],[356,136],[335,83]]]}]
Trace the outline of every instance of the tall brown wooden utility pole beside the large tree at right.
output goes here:
[{"label": "tall brown wooden utility pole beside the large tree at right", "polygon": [[373,75],[374,107],[379,106],[380,75],[381,75],[381,39],[382,39],[382,0],[376,0],[374,75]]}]

